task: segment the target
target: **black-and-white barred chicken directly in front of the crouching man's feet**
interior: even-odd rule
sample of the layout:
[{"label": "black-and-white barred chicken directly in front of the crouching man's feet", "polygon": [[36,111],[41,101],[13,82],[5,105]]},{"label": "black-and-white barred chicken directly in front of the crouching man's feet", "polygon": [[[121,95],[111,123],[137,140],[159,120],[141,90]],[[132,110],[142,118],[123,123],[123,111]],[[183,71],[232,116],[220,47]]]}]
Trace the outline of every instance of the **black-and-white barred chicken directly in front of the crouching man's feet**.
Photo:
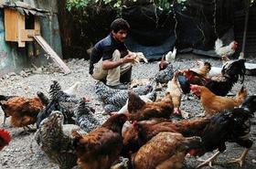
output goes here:
[{"label": "black-and-white barred chicken directly in front of the crouching man's feet", "polygon": [[[103,103],[104,111],[106,112],[119,111],[123,108],[128,99],[128,90],[114,90],[104,85],[101,81],[97,81],[95,90],[99,100]],[[138,86],[133,89],[133,92],[137,95],[145,95],[152,90],[153,87],[147,85]]]}]

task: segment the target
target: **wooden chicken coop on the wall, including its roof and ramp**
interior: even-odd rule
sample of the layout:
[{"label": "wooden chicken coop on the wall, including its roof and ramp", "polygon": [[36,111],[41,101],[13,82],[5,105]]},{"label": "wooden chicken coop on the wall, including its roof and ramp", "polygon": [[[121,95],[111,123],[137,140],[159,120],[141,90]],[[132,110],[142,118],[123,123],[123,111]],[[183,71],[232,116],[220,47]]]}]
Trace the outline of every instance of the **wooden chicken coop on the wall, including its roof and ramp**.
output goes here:
[{"label": "wooden chicken coop on the wall, including its roof and ramp", "polygon": [[47,16],[49,12],[44,9],[32,7],[24,2],[4,5],[5,13],[5,41],[17,42],[19,48],[25,48],[26,42],[35,41],[59,65],[65,74],[70,72],[58,54],[48,45],[40,35],[40,16]]}]

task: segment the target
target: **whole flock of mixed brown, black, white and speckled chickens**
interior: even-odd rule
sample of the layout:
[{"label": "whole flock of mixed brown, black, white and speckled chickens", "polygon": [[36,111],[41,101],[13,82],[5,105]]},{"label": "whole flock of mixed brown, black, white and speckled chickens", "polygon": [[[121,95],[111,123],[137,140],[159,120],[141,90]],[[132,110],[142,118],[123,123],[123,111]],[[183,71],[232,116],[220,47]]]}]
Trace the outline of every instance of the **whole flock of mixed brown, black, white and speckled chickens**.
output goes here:
[{"label": "whole flock of mixed brown, black, white and speckled chickens", "polygon": [[[227,96],[239,79],[243,82],[245,59],[229,60],[237,43],[222,47],[220,42],[216,53],[223,56],[221,69],[198,61],[197,68],[174,70],[175,48],[162,58],[154,79],[133,80],[131,90],[114,90],[98,81],[96,94],[110,115],[103,123],[94,117],[91,100],[74,94],[80,82],[62,90],[54,80],[48,96],[0,95],[0,104],[12,126],[36,131],[38,146],[59,168],[178,169],[187,153],[201,156],[218,150],[197,166],[203,167],[212,165],[227,142],[245,148],[238,159],[229,161],[241,166],[252,146],[249,133],[256,96],[248,96],[245,86],[235,96]],[[205,117],[182,118],[181,98],[190,92],[201,101]],[[10,142],[10,134],[0,129],[0,150]]]}]

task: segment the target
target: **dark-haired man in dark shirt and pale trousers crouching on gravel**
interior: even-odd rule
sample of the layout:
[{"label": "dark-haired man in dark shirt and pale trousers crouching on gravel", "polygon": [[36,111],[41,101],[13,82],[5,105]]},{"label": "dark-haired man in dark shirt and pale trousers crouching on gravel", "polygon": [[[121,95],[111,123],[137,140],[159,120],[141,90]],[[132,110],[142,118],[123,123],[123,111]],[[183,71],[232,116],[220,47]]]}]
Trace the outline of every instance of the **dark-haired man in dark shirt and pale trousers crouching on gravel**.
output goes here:
[{"label": "dark-haired man in dark shirt and pale trousers crouching on gravel", "polygon": [[115,19],[111,34],[101,39],[91,51],[89,72],[92,78],[105,80],[106,85],[113,89],[127,89],[120,81],[125,73],[128,73],[128,77],[124,77],[126,82],[131,80],[132,61],[136,55],[124,44],[129,28],[123,18]]}]

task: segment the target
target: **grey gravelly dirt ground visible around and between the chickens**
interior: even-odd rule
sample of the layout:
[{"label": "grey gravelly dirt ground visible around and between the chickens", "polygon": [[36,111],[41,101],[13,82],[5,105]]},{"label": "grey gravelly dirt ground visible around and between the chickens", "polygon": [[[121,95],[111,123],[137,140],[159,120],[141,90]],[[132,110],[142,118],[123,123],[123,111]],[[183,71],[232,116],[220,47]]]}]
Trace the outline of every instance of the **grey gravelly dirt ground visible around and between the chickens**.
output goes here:
[{"label": "grey gravelly dirt ground visible around and between the chickens", "polygon": [[[184,69],[193,67],[193,59],[189,55],[183,58],[178,58],[174,63],[175,69]],[[202,60],[208,60],[213,66],[221,66],[221,62],[216,58],[200,58]],[[251,61],[252,59],[248,59]],[[253,61],[253,60],[252,60]],[[71,73],[69,75],[63,75],[61,70],[55,66],[55,64],[49,64],[48,66],[38,69],[24,69],[20,73],[9,73],[0,79],[0,94],[5,95],[18,95],[26,97],[35,97],[37,91],[48,93],[49,85],[52,80],[59,81],[63,89],[69,88],[75,81],[80,80],[81,87],[77,95],[82,97],[84,95],[89,96],[93,102],[94,109],[96,109],[96,115],[101,121],[104,121],[107,116],[101,115],[102,108],[101,103],[97,100],[94,93],[95,80],[91,79],[88,74],[89,64],[88,61],[83,59],[71,59],[67,61]],[[140,64],[133,67],[133,79],[152,78],[157,72],[157,62],[151,62],[149,64]],[[249,90],[249,94],[256,94],[256,77],[246,76],[244,86]],[[231,93],[236,93],[240,90],[241,84],[237,83]],[[195,117],[203,112],[199,100],[192,95],[183,97],[181,109],[190,112],[191,117]],[[48,162],[46,155],[38,148],[37,143],[34,141],[34,133],[21,134],[22,128],[13,128],[10,126],[9,118],[3,126],[4,113],[0,109],[0,127],[5,128],[11,132],[12,141],[0,152],[0,168],[1,169],[48,169],[59,168],[56,164]],[[256,120],[252,119],[251,126],[251,140],[254,144],[249,152],[245,164],[241,167],[244,169],[256,168]],[[30,144],[33,145],[34,153],[30,152]],[[243,151],[236,143],[227,143],[227,151],[219,155],[218,165],[214,165],[216,169],[236,169],[240,168],[237,164],[226,164],[226,162],[232,158],[237,157]],[[213,153],[207,153],[200,159],[206,159]],[[184,168],[195,168],[198,162],[198,158],[187,157],[184,163]],[[209,167],[205,167],[209,168]]]}]

